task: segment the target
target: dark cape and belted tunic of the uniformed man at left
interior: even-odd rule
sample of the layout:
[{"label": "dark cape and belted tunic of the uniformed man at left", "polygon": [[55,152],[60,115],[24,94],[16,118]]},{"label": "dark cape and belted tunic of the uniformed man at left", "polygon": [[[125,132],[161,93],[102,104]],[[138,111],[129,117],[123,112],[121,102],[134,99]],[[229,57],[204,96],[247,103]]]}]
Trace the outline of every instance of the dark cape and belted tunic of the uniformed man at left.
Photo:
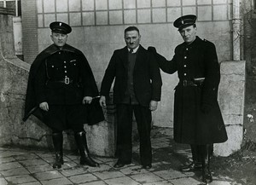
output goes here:
[{"label": "dark cape and belted tunic of the uniformed man at left", "polygon": [[[64,82],[65,77],[68,84]],[[98,95],[95,78],[84,54],[68,44],[61,50],[52,44],[32,63],[23,120],[34,114],[45,123],[44,111],[38,107],[44,101],[49,105],[76,105],[82,104],[84,96]],[[96,124],[104,119],[97,101],[84,108],[84,119],[87,119],[84,123]]]}]

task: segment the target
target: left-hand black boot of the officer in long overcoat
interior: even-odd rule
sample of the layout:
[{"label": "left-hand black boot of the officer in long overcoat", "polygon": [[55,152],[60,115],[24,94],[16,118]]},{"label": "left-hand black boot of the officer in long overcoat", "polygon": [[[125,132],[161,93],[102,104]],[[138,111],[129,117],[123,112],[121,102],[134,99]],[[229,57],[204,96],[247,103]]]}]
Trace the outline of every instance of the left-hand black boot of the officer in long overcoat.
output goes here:
[{"label": "left-hand black boot of the officer in long overcoat", "polygon": [[200,171],[202,164],[198,145],[190,145],[193,161],[189,165],[183,165],[181,171]]}]

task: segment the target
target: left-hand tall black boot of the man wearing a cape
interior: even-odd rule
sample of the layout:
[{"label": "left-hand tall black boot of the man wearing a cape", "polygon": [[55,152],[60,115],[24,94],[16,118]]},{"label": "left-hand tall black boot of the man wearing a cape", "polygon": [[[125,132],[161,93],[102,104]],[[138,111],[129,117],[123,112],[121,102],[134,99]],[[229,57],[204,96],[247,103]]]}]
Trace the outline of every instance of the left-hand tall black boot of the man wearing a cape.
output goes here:
[{"label": "left-hand tall black boot of the man wearing a cape", "polygon": [[53,133],[52,134],[52,141],[55,147],[55,163],[53,164],[53,168],[61,168],[61,165],[63,165],[63,135],[62,132],[59,133]]}]

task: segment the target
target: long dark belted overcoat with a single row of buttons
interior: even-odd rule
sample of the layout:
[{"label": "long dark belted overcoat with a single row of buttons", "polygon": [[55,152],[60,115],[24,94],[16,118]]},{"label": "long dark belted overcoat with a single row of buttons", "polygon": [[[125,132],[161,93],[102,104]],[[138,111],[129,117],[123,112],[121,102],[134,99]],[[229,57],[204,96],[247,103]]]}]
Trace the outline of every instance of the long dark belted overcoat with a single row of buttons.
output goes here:
[{"label": "long dark belted overcoat with a single row of buttons", "polygon": [[[197,145],[225,142],[217,99],[220,72],[215,45],[196,37],[193,43],[178,45],[172,61],[158,54],[157,58],[164,72],[177,72],[179,78],[174,96],[174,140]],[[195,78],[205,80],[201,84]]]}]

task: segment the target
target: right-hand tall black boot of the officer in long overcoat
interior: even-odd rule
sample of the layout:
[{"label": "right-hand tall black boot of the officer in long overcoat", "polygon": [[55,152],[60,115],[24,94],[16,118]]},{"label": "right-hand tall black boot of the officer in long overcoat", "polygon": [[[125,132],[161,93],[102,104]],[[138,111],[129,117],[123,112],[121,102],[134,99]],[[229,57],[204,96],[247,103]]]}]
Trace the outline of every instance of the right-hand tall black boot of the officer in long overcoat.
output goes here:
[{"label": "right-hand tall black boot of the officer in long overcoat", "polygon": [[208,184],[212,182],[212,173],[210,171],[210,159],[212,156],[213,145],[202,145],[202,182]]}]

